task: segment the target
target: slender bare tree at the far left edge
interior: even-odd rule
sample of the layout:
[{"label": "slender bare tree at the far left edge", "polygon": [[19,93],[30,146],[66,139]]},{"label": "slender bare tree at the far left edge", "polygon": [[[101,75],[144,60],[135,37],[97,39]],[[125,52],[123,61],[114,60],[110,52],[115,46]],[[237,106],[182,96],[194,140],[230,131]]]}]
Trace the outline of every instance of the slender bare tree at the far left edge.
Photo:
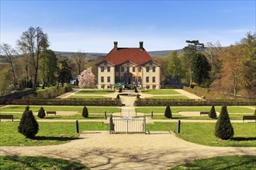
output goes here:
[{"label": "slender bare tree at the far left edge", "polygon": [[13,86],[16,87],[16,74],[14,69],[14,59],[16,57],[16,50],[6,43],[2,43],[2,45],[0,45],[0,49],[0,58],[5,59],[5,62],[9,63],[10,69],[12,71]]}]

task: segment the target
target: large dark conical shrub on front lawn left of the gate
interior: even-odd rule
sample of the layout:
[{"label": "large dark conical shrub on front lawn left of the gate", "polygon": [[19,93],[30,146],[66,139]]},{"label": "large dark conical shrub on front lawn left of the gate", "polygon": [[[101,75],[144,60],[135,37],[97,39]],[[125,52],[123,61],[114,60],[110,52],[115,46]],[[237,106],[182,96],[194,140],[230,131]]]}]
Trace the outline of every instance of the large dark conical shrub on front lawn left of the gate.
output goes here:
[{"label": "large dark conical shrub on front lawn left of the gate", "polygon": [[39,131],[39,125],[33,115],[33,112],[29,110],[29,106],[26,107],[22,114],[18,131],[26,136],[26,138],[35,138],[37,132]]}]

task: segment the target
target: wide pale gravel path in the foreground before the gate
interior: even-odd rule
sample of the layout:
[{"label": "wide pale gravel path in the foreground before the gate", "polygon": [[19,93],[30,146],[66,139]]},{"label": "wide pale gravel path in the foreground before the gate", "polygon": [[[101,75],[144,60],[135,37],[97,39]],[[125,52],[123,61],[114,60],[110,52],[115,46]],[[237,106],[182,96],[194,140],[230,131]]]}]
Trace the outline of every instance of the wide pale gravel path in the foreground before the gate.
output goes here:
[{"label": "wide pale gravel path in the foreground before the gate", "polygon": [[166,169],[220,155],[256,155],[256,148],[209,147],[183,141],[166,131],[109,134],[85,131],[63,145],[1,147],[0,155],[47,156],[81,162],[92,169]]}]

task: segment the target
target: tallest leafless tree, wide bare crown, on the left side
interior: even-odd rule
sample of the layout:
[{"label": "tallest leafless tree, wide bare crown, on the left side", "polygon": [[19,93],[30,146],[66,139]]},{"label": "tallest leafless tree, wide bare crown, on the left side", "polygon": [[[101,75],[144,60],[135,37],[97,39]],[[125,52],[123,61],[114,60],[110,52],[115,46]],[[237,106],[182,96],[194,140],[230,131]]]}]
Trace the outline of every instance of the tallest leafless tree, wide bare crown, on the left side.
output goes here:
[{"label": "tallest leafless tree, wide bare crown, on the left side", "polygon": [[33,90],[36,91],[39,60],[41,58],[40,53],[49,46],[47,34],[43,33],[43,29],[40,27],[30,27],[26,32],[22,32],[22,36],[20,36],[17,44],[19,49],[31,57],[29,64],[34,69]]}]

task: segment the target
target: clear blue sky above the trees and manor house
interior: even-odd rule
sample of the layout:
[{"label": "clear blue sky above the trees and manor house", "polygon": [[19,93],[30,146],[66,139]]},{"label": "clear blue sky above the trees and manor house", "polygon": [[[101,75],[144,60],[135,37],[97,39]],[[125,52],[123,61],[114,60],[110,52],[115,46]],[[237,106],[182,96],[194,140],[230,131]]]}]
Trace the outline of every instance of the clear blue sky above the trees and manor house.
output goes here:
[{"label": "clear blue sky above the trees and manor house", "polygon": [[50,49],[108,53],[118,46],[182,49],[186,39],[230,46],[255,32],[256,1],[1,0],[1,43],[16,46],[29,26],[46,32]]}]

